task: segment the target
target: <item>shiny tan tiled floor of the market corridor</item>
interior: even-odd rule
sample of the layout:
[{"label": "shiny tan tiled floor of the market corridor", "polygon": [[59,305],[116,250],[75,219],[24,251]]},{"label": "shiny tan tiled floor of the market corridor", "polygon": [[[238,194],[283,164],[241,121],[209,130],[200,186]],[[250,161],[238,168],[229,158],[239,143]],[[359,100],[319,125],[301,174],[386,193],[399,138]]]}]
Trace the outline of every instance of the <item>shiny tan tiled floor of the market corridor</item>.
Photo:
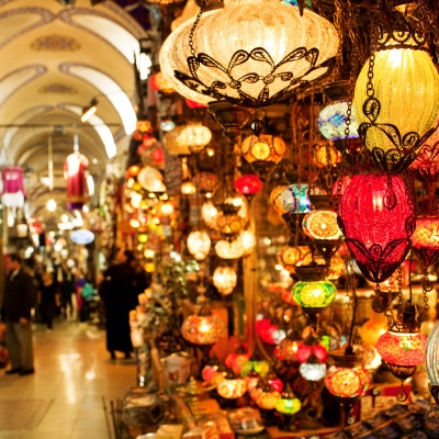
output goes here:
[{"label": "shiny tan tiled floor of the market corridor", "polygon": [[110,361],[104,331],[77,323],[37,327],[34,349],[35,374],[0,371],[0,439],[108,439],[102,397],[136,385],[134,359]]}]

